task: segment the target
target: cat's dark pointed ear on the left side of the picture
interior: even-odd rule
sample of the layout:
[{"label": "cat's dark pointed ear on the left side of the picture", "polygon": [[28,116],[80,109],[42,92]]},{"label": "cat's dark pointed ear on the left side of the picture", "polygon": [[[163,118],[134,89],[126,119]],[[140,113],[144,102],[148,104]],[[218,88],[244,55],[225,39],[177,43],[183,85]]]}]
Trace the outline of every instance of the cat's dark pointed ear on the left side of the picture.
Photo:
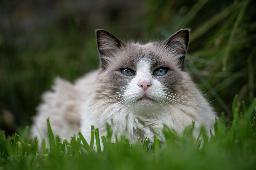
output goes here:
[{"label": "cat's dark pointed ear on the left side of the picture", "polygon": [[113,54],[120,50],[124,44],[110,32],[104,29],[96,30],[98,51],[100,53],[100,68],[105,69]]}]

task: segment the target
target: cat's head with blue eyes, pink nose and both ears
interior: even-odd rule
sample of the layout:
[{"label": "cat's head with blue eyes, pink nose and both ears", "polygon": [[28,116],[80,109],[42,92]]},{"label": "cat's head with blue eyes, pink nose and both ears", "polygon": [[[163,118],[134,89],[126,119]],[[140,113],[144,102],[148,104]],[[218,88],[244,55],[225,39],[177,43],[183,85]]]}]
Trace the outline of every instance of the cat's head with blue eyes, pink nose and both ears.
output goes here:
[{"label": "cat's head with blue eyes, pink nose and both ears", "polygon": [[106,30],[97,30],[97,92],[102,94],[98,98],[127,107],[174,104],[180,89],[186,86],[184,59],[189,34],[189,29],[181,29],[163,42],[139,44],[123,42]]}]

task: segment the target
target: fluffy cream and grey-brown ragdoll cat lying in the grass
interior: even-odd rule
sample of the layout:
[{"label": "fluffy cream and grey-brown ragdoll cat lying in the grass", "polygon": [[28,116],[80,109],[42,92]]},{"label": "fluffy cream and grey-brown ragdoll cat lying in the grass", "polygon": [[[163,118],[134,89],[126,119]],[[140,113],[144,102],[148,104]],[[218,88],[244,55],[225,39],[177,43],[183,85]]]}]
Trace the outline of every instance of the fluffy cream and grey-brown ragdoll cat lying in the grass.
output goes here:
[{"label": "fluffy cream and grey-brown ragdoll cat lying in the grass", "polygon": [[80,130],[87,141],[91,125],[106,135],[106,122],[131,143],[146,137],[152,143],[154,134],[163,143],[163,124],[181,133],[194,121],[195,137],[201,126],[213,129],[216,115],[185,70],[189,34],[181,29],[163,42],[139,44],[97,30],[100,68],[74,84],[57,78],[43,95],[32,134],[47,138],[48,116],[55,135],[70,139]]}]

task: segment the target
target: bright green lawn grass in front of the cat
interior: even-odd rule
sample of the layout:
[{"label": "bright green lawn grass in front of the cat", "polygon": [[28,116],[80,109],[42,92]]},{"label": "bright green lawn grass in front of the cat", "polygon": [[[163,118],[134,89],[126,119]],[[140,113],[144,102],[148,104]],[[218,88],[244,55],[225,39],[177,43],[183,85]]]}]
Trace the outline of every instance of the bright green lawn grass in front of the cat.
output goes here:
[{"label": "bright green lawn grass in front of the cat", "polygon": [[[198,139],[192,137],[193,124],[182,134],[164,126],[166,143],[154,139],[152,146],[148,139],[130,144],[122,136],[115,143],[110,142],[112,131],[102,136],[104,150],[100,150],[98,128],[92,126],[92,141],[86,141],[81,133],[71,141],[60,141],[54,137],[48,123],[50,148],[45,141],[38,147],[38,141],[26,139],[28,127],[19,136],[5,137],[0,131],[0,169],[255,169],[256,166],[256,98],[248,105],[236,104],[233,100],[231,122],[225,116],[214,124],[215,134],[208,137],[203,128]],[[243,110],[243,112],[240,112]],[[90,145],[89,145],[90,142]],[[95,148],[98,152],[95,152]]]}]

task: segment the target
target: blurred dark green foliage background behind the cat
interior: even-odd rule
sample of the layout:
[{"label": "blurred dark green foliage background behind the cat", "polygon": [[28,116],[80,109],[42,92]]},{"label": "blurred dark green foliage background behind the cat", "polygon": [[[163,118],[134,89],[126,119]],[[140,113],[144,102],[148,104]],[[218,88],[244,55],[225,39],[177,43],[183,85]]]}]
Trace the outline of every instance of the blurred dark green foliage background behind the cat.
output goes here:
[{"label": "blurred dark green foliage background behind the cat", "polygon": [[144,43],[190,28],[186,69],[231,118],[235,94],[246,103],[255,96],[255,9],[249,0],[1,1],[0,128],[30,125],[56,76],[73,82],[97,69],[99,28]]}]

